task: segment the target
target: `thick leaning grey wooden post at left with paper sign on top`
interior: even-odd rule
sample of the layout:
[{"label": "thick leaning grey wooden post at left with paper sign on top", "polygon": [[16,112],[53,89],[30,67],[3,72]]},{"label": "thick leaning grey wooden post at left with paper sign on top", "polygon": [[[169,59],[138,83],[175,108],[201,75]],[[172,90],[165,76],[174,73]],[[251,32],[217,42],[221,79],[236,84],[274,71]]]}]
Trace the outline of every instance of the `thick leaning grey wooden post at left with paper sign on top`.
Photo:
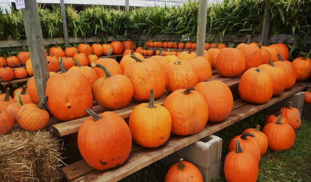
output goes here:
[{"label": "thick leaning grey wooden post at left with paper sign on top", "polygon": [[39,101],[45,96],[46,82],[49,78],[49,67],[46,61],[43,44],[42,29],[39,20],[38,4],[36,0],[26,0],[22,9],[26,38],[31,57],[32,69]]}]

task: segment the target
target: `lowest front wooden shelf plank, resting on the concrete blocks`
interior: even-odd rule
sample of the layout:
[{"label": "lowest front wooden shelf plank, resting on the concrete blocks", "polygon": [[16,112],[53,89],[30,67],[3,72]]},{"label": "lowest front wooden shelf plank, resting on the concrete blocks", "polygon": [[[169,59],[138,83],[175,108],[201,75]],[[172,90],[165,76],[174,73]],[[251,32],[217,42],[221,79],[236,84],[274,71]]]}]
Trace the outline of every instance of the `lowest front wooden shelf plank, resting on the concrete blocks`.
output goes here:
[{"label": "lowest front wooden shelf plank, resting on the concrete blocks", "polygon": [[[294,93],[297,93],[306,87],[306,83],[298,83],[295,84],[292,88],[285,90],[279,96],[272,97],[268,102],[264,104],[246,104],[242,107],[237,107],[233,110],[228,118],[224,121],[218,123],[208,122],[207,125],[197,134],[188,135],[188,136],[178,136],[172,134],[168,141],[157,148],[144,148],[138,152],[131,154],[127,161],[124,162],[118,168],[112,168],[105,171],[98,171],[92,169],[90,166],[86,164],[84,160],[79,161],[79,165],[83,167],[84,172],[89,171],[87,174],[82,175],[80,178],[77,178],[77,167],[80,168],[77,164],[74,166],[69,165],[62,168],[63,175],[68,181],[118,181],[123,179],[124,177],[146,167],[153,162],[160,160],[161,158],[168,156],[169,154],[176,152],[177,150],[190,145],[191,143],[196,142],[210,134],[215,133],[229,125],[232,125],[247,116],[250,116],[262,109],[267,108],[279,102]],[[237,101],[235,101],[237,102]],[[243,103],[239,100],[239,102]],[[245,103],[244,103],[245,104]],[[81,174],[80,174],[81,175]],[[77,178],[74,180],[74,178]]]}]

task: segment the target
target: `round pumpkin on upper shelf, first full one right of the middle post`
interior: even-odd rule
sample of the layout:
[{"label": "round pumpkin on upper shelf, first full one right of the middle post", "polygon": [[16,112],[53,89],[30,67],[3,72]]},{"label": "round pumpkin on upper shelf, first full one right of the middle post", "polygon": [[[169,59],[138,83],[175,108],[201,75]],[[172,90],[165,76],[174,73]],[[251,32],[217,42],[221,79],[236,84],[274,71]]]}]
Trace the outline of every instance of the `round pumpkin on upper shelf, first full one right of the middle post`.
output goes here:
[{"label": "round pumpkin on upper shelf, first full one right of the middle post", "polygon": [[216,70],[224,77],[241,75],[246,67],[246,61],[241,51],[237,48],[222,48],[216,58]]}]

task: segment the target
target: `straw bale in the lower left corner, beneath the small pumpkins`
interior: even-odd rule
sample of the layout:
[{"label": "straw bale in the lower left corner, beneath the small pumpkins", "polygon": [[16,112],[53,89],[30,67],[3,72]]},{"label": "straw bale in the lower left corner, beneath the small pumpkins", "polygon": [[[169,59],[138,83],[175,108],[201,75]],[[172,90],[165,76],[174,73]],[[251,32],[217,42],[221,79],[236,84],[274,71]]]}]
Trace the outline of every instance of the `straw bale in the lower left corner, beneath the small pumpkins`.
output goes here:
[{"label": "straw bale in the lower left corner, beneath the small pumpkins", "polygon": [[17,124],[0,135],[1,181],[59,181],[61,147],[48,131],[28,132]]}]

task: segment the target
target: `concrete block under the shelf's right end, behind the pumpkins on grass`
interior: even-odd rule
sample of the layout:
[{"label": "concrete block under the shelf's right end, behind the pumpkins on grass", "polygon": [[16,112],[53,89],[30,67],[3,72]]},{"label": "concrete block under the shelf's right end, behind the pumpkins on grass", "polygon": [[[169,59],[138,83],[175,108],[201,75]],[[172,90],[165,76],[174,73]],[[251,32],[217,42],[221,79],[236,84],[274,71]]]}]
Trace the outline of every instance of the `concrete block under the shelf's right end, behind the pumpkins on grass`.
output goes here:
[{"label": "concrete block under the shelf's right end, behind the pumpkins on grass", "polygon": [[265,111],[267,114],[276,113],[281,107],[286,107],[290,101],[292,102],[292,107],[297,108],[301,115],[302,107],[304,106],[304,92],[295,93],[294,95],[267,107]]}]

